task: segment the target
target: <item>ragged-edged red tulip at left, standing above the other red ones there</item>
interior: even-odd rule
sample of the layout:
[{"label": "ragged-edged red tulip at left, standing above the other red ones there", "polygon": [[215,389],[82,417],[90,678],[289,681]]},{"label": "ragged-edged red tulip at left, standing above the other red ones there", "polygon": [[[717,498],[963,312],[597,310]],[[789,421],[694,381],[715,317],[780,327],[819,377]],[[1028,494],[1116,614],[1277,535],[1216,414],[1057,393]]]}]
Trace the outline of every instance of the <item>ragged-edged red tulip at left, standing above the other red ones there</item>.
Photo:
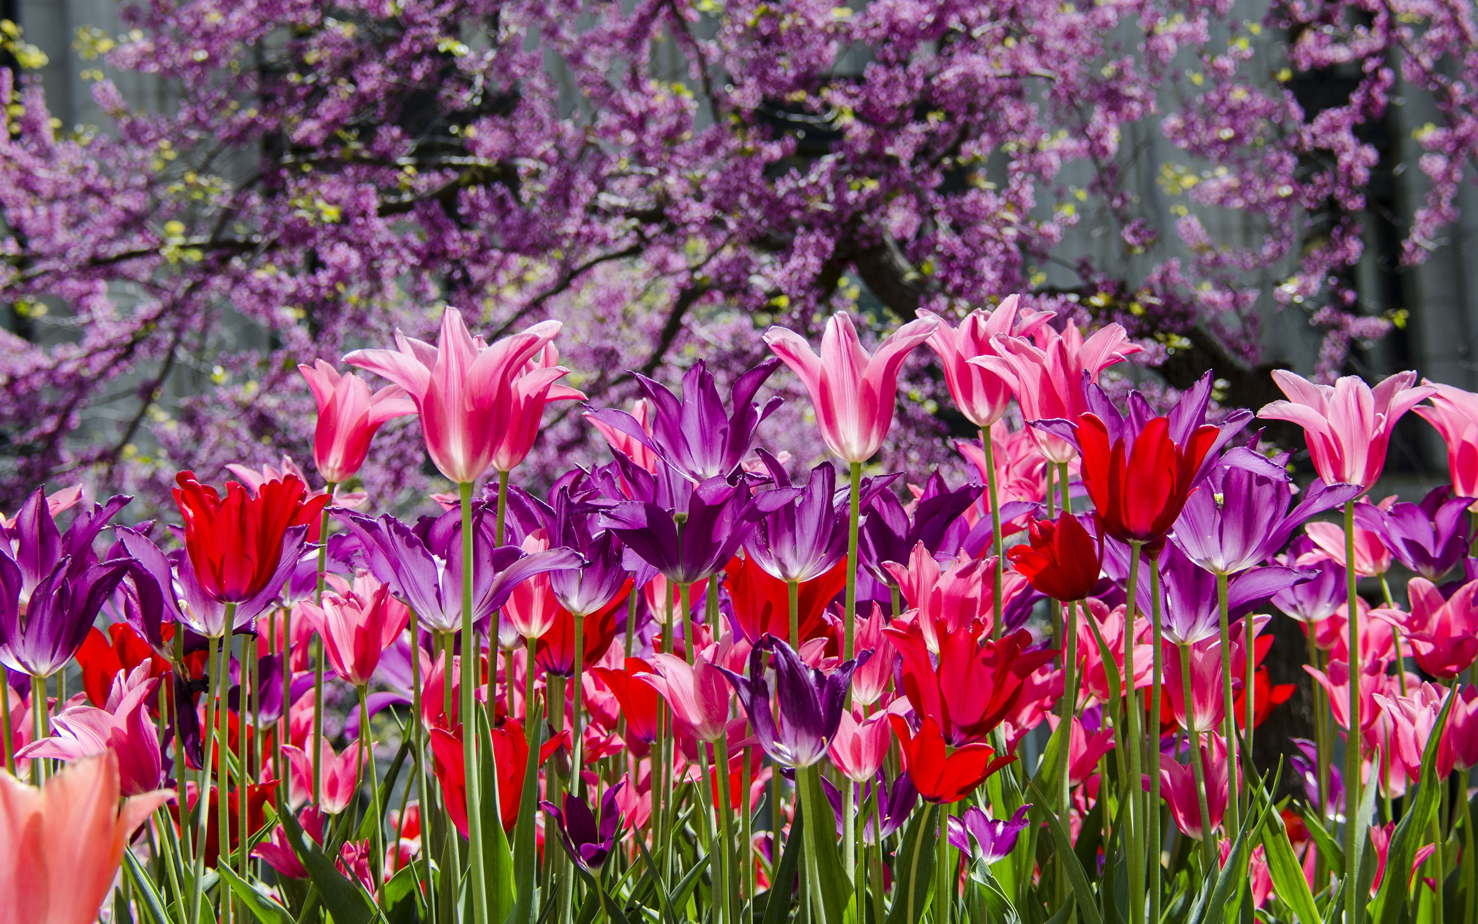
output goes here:
[{"label": "ragged-edged red tulip at left, standing above the other red ones there", "polygon": [[262,485],[256,495],[242,485],[226,485],[222,498],[200,483],[194,472],[176,476],[174,503],[185,517],[185,551],[201,590],[222,603],[250,600],[272,581],[282,550],[299,541],[328,504],[328,495],[307,498],[296,476]]}]

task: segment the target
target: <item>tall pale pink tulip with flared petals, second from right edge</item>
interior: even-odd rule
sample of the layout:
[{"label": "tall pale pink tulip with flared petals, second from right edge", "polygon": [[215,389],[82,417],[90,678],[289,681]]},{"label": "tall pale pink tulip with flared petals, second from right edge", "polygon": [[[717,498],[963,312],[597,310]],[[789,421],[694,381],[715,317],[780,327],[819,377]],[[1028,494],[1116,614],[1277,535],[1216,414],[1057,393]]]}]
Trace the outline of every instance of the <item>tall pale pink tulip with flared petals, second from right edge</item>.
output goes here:
[{"label": "tall pale pink tulip with flared petals, second from right edge", "polygon": [[1386,445],[1395,421],[1437,389],[1416,386],[1416,373],[1397,373],[1372,389],[1357,376],[1335,384],[1314,384],[1287,370],[1273,370],[1289,401],[1258,411],[1264,420],[1287,420],[1304,427],[1314,469],[1326,483],[1370,488],[1385,469]]}]

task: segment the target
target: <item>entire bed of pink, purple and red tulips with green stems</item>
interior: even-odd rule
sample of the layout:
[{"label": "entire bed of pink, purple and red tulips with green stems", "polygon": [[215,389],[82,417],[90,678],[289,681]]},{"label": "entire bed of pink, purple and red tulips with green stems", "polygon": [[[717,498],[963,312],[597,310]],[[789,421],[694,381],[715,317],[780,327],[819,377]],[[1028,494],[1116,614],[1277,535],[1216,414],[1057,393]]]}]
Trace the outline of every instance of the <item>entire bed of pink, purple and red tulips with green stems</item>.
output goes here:
[{"label": "entire bed of pink, purple and red tulips with green stems", "polygon": [[[383,387],[304,358],[310,472],[28,488],[0,924],[1478,924],[1478,396],[1280,370],[1305,478],[1212,373],[1111,398],[1119,325],[937,294],[636,376],[547,482],[560,324],[448,309]],[[971,480],[888,470],[907,356]],[[776,451],[792,373],[847,469]],[[1451,485],[1372,503],[1428,399]],[[439,509],[356,480],[412,411]]]}]

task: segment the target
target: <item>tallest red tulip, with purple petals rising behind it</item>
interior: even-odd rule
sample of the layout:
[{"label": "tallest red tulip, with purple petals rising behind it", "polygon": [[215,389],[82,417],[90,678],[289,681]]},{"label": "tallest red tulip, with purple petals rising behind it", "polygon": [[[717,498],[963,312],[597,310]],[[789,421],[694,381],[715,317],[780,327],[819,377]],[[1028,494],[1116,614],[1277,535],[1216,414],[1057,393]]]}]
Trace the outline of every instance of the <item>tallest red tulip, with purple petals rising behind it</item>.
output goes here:
[{"label": "tallest red tulip, with purple petals rising behind it", "polygon": [[1126,429],[1110,439],[1097,414],[1079,417],[1083,488],[1104,531],[1157,551],[1196,486],[1196,475],[1216,436],[1216,427],[1202,426],[1176,444],[1169,417],[1153,417],[1138,435]]}]

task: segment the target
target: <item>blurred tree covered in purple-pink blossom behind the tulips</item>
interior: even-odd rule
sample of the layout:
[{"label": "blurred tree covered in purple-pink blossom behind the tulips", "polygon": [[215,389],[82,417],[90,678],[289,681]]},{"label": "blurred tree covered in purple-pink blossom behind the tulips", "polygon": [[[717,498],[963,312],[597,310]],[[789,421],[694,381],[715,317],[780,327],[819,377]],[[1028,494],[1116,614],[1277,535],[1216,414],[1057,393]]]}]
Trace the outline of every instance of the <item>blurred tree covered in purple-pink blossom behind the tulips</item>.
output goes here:
[{"label": "blurred tree covered in purple-pink blossom behind the tulips", "polygon": [[[1267,290],[1324,330],[1326,376],[1388,325],[1348,271],[1394,69],[1445,118],[1420,139],[1407,260],[1478,146],[1468,0],[834,1],[154,0],[80,44],[177,103],[132,108],[95,69],[112,124],[69,132],[13,53],[0,509],[77,469],[148,489],[306,457],[296,364],[426,336],[445,303],[489,337],[563,319],[571,384],[622,404],[625,370],[732,374],[767,324],[819,331],[860,293],[888,328],[1021,291],[1119,321],[1171,386],[1215,367],[1256,407]],[[1358,72],[1348,99],[1301,105],[1298,75],[1335,65]],[[1126,188],[1144,127],[1179,149],[1169,228]],[[1114,245],[1069,253],[1083,222]],[[959,421],[933,358],[910,362],[887,461],[916,466]],[[773,444],[808,439],[777,420]],[[566,414],[539,452],[587,439]],[[364,478],[393,503],[423,470],[392,426]]]}]

